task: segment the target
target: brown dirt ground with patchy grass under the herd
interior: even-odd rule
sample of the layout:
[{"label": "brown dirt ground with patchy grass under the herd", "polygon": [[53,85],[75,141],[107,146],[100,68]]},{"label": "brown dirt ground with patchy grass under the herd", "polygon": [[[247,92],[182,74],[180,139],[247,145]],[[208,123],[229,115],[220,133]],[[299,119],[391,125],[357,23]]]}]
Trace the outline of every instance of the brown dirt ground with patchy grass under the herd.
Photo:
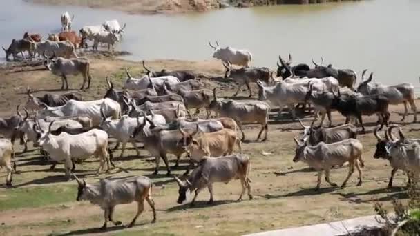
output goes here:
[{"label": "brown dirt ground with patchy grass under the herd", "polygon": [[[132,75],[142,72],[140,63],[123,61],[104,55],[90,57],[93,83],[90,90],[82,91],[84,99],[99,99],[106,89],[105,77],[109,76],[117,88],[121,88],[125,78],[124,68],[130,68]],[[220,97],[233,94],[236,84],[222,79],[222,64],[218,61],[146,61],[154,70],[161,68],[189,69],[198,72],[200,81],[206,88],[220,88]],[[37,91],[62,92],[59,77],[51,75],[42,66],[3,66],[0,68],[0,115],[8,117],[15,113],[18,104],[27,100],[26,86]],[[79,88],[80,77],[70,77],[70,88]],[[244,86],[245,88],[245,86]],[[256,94],[256,86],[253,86]],[[247,91],[242,91],[238,99],[247,97]],[[255,97],[255,95],[254,95]],[[419,106],[420,103],[417,102]],[[399,114],[402,106],[391,106],[392,123],[400,124],[408,137],[420,137],[419,124],[411,124],[413,117],[408,116],[406,123],[401,123]],[[275,111],[275,110],[274,110]],[[275,113],[272,117],[275,117]],[[313,118],[302,117],[309,124]],[[334,112],[333,124],[343,124],[343,117]],[[215,184],[215,204],[208,206],[207,190],[198,197],[198,204],[190,208],[188,204],[176,203],[178,186],[173,179],[166,177],[166,171],[161,164],[160,175],[153,176],[154,158],[145,150],[141,156],[135,155],[135,150],[128,145],[125,157],[116,158],[116,164],[128,173],[119,169],[111,173],[93,175],[99,164],[95,159],[88,159],[83,164],[77,164],[76,174],[86,181],[95,182],[104,177],[122,177],[146,175],[153,179],[153,199],[158,209],[158,221],[151,224],[152,213],[149,206],[137,219],[134,228],[112,226],[106,235],[242,235],[262,230],[274,230],[290,226],[303,226],[321,222],[331,222],[351,217],[372,215],[375,201],[390,205],[392,197],[404,199],[405,175],[397,173],[394,188],[385,190],[391,168],[388,161],[372,157],[376,139],[372,135],[376,117],[365,117],[366,134],[360,134],[363,143],[365,168],[363,169],[363,185],[356,186],[356,173],[352,176],[345,189],[330,188],[322,182],[321,190],[316,192],[316,172],[311,171],[303,163],[294,164],[295,144],[293,137],[299,136],[302,128],[298,122],[293,122],[284,113],[282,119],[271,119],[269,136],[266,142],[246,141],[242,147],[244,153],[251,159],[250,177],[254,200],[245,199],[238,203],[235,200],[240,193],[239,181]],[[245,126],[247,140],[256,138],[258,125]],[[21,146],[16,144],[18,152]],[[115,157],[120,155],[117,150]],[[171,165],[175,157],[171,157]],[[180,170],[175,175],[181,175],[187,167],[187,159],[182,159]],[[30,146],[28,153],[17,155],[18,174],[14,175],[14,187],[4,185],[6,173],[0,173],[0,232],[1,235],[84,235],[104,233],[97,230],[103,223],[103,212],[98,206],[88,202],[75,201],[77,183],[64,181],[62,165],[55,170],[48,170],[48,162],[41,159],[39,151]],[[341,183],[347,175],[347,168],[332,170],[332,180]],[[115,219],[123,224],[135,215],[135,204],[117,206]]]}]

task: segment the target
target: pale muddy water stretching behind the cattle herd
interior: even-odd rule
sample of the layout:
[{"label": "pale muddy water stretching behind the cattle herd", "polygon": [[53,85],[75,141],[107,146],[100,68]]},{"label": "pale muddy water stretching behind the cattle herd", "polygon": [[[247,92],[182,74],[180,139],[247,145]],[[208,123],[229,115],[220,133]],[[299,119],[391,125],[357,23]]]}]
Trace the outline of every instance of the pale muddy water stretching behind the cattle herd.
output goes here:
[{"label": "pale muddy water stretching behind the cattle herd", "polygon": [[[118,19],[127,23],[118,46],[127,59],[211,58],[209,40],[247,48],[257,66],[276,67],[278,54],[292,52],[295,62],[311,57],[335,67],[368,68],[383,83],[419,83],[420,1],[374,0],[314,6],[228,8],[177,16],[140,16],[79,7],[36,6],[2,0],[0,44],[7,46],[23,32],[58,32],[59,16],[75,14],[73,28]],[[3,60],[3,58],[2,58]]]}]

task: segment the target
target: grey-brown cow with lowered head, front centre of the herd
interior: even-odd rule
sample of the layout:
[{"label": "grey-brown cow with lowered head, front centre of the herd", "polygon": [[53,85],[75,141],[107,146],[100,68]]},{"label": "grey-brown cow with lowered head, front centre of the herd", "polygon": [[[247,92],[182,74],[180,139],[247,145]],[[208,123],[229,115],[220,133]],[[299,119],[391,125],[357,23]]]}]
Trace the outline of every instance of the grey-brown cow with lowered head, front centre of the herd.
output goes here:
[{"label": "grey-brown cow with lowered head, front centre of the herd", "polygon": [[230,155],[227,157],[204,157],[198,168],[195,168],[193,173],[187,177],[185,181],[174,177],[180,189],[178,190],[178,204],[182,204],[187,200],[190,192],[195,191],[191,206],[194,206],[195,199],[204,188],[209,189],[210,200],[209,204],[213,204],[213,183],[229,183],[232,179],[240,179],[242,185],[242,193],[238,201],[242,201],[242,195],[245,190],[248,190],[249,199],[251,195],[251,179],[249,175],[249,157],[243,154]]}]

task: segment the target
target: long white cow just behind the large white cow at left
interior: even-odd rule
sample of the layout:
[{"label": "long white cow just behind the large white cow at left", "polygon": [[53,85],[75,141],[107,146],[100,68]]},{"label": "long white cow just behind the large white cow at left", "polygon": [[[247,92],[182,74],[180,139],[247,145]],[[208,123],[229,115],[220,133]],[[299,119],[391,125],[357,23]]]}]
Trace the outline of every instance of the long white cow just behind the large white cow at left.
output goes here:
[{"label": "long white cow just behind the large white cow at left", "polygon": [[44,105],[45,109],[40,110],[39,118],[45,117],[70,117],[77,115],[87,115],[92,118],[93,126],[99,124],[102,120],[102,109],[106,117],[119,119],[121,116],[121,106],[117,101],[112,99],[99,99],[94,101],[75,101],[70,100],[63,106],[50,107]]}]

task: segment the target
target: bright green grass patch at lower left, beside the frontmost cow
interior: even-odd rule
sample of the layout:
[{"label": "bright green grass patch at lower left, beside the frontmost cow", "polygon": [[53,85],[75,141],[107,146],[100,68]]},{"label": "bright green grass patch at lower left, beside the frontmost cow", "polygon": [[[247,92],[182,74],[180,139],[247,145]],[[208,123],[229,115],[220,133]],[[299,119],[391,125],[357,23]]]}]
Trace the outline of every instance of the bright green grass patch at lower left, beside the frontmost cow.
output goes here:
[{"label": "bright green grass patch at lower left, beside the frontmost cow", "polygon": [[0,210],[36,208],[75,201],[74,186],[12,188],[0,193]]}]

